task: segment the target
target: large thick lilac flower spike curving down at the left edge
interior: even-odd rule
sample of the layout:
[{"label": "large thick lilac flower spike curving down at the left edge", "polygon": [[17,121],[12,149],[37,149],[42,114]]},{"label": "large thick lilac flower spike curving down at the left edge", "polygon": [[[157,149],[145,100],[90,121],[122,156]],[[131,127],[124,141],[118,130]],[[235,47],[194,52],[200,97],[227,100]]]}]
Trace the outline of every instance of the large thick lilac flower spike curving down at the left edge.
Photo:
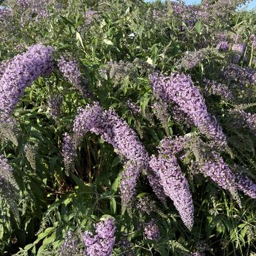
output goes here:
[{"label": "large thick lilac flower spike curving down at the left edge", "polygon": [[53,70],[53,48],[34,45],[10,61],[0,79],[0,110],[10,114],[27,86]]}]

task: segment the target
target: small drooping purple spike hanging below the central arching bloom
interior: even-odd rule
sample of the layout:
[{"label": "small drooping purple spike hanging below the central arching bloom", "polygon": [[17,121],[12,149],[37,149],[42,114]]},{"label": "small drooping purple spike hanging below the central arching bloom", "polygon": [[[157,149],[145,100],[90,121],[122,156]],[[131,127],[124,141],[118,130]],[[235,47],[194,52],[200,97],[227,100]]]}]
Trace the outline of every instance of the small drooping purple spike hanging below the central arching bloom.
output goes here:
[{"label": "small drooping purple spike hanging below the central arching bloom", "polygon": [[140,176],[140,167],[130,162],[124,165],[121,173],[120,194],[121,202],[124,206],[130,207],[130,203],[136,194],[136,185]]}]

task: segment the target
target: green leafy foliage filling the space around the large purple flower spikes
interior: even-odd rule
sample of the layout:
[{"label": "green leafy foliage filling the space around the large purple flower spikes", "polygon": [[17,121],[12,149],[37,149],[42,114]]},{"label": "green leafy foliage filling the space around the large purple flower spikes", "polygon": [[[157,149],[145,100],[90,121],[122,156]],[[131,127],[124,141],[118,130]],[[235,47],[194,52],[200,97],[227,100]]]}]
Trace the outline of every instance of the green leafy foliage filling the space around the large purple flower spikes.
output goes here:
[{"label": "green leafy foliage filling the space around the large purple flower spikes", "polygon": [[[1,154],[15,170],[20,194],[18,215],[1,197],[1,254],[73,255],[60,251],[65,237],[75,239],[67,238],[68,231],[80,238],[101,217],[113,216],[117,226],[113,255],[128,255],[121,246],[123,238],[129,239],[135,255],[254,255],[255,201],[239,194],[239,203],[212,181],[194,176],[189,169],[189,162],[195,160],[192,156],[181,165],[195,207],[195,225],[189,231],[171,200],[167,207],[157,200],[145,173],[138,181],[136,207],[122,211],[118,192],[122,160],[99,136],[85,135],[69,176],[61,145],[64,132],[72,130],[78,107],[94,100],[102,108],[114,108],[137,132],[149,154],[157,154],[159,142],[167,136],[191,133],[208,142],[187,121],[177,121],[172,106],[160,113],[154,108],[159,99],[152,94],[148,75],[182,71],[191,76],[227,135],[230,152],[222,153],[225,162],[243,166],[246,175],[255,180],[255,132],[239,121],[234,123],[238,115],[230,113],[237,109],[255,113],[255,81],[241,85],[247,78],[234,78],[232,72],[228,72],[230,79],[225,75],[238,54],[231,50],[236,41],[246,44],[239,67],[255,72],[255,46],[250,39],[256,31],[255,12],[233,12],[241,1],[231,1],[228,8],[225,1],[204,1],[219,3],[219,12],[209,8],[208,15],[200,18],[193,14],[198,7],[181,6],[181,15],[177,15],[170,1],[69,0],[45,5],[42,1],[36,9],[20,2],[4,1],[12,12],[3,20],[0,16],[1,64],[40,42],[54,48],[56,69],[50,77],[34,81],[18,102],[13,113],[17,145],[1,142]],[[217,48],[224,40],[231,45],[227,51]],[[61,74],[61,56],[77,61],[90,97],[84,98],[83,88]],[[205,79],[224,84],[234,100],[225,99],[212,84],[206,86]],[[63,102],[53,115],[49,98],[56,95]],[[148,196],[151,211],[147,214],[137,206]],[[143,234],[143,225],[151,219],[159,227],[157,241]],[[78,255],[83,255],[83,245],[76,246]]]}]

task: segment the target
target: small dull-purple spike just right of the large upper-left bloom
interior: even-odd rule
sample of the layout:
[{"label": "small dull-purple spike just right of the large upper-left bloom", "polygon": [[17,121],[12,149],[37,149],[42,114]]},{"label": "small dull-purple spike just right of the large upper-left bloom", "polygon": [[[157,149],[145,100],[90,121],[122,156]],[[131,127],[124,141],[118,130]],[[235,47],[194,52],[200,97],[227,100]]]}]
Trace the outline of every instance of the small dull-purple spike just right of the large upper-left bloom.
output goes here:
[{"label": "small dull-purple spike just right of the large upper-left bloom", "polygon": [[81,75],[77,61],[61,56],[58,60],[58,67],[64,78],[66,78],[69,83],[72,83],[84,98],[89,97],[88,82],[86,78],[83,78],[83,75]]}]

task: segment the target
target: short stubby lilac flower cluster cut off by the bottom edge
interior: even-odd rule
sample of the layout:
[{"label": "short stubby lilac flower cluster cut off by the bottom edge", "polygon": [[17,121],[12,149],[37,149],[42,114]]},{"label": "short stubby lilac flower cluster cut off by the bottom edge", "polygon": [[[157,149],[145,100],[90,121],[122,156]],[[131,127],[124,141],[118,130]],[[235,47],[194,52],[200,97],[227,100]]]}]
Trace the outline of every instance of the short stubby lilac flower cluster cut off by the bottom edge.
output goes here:
[{"label": "short stubby lilac flower cluster cut off by the bottom edge", "polygon": [[83,242],[86,246],[85,255],[110,256],[116,240],[114,219],[105,219],[98,222],[94,227],[96,229],[95,235],[90,231],[83,235]]}]

